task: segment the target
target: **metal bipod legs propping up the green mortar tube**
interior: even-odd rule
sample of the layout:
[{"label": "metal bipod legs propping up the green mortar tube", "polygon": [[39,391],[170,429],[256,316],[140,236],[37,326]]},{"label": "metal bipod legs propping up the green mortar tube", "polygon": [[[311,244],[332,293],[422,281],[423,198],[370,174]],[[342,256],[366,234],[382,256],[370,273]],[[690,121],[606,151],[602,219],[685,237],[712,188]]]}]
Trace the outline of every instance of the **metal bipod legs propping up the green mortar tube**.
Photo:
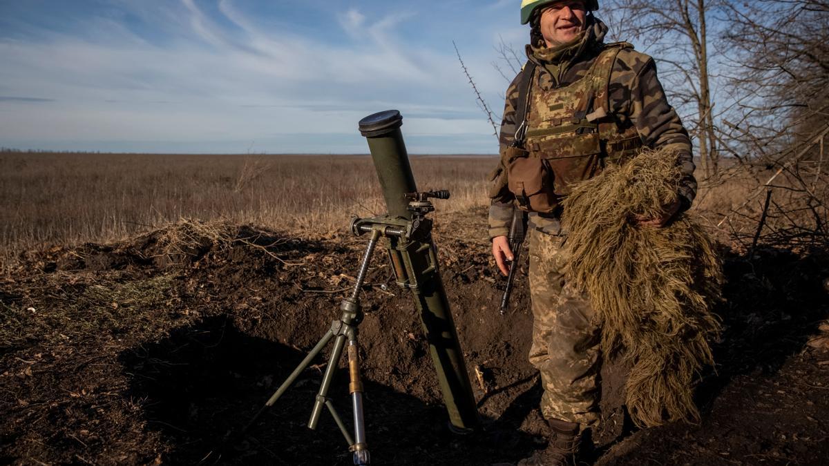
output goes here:
[{"label": "metal bipod legs propping up the green mortar tube", "polygon": [[[366,444],[366,424],[363,418],[363,386],[360,376],[360,356],[357,335],[359,333],[358,326],[364,317],[360,305],[360,290],[366,279],[368,265],[371,262],[371,255],[374,253],[377,240],[380,236],[381,231],[379,229],[371,232],[371,238],[366,246],[366,251],[362,256],[360,271],[357,274],[356,283],[354,284],[354,288],[351,290],[351,296],[343,299],[340,304],[342,316],[338,320],[332,322],[331,328],[328,329],[327,333],[322,337],[322,339],[320,339],[317,345],[314,346],[310,352],[308,352],[305,359],[303,359],[297,368],[291,372],[291,375],[285,379],[281,386],[279,386],[279,389],[274,392],[274,395],[271,396],[267,402],[265,402],[264,406],[262,406],[262,408],[259,409],[248,424],[245,425],[242,433],[245,433],[248,429],[250,429],[256,420],[259,420],[259,416],[261,416],[269,407],[274,405],[274,403],[279,400],[279,397],[284,395],[285,391],[288,391],[288,388],[293,385],[293,382],[297,380],[298,376],[311,365],[313,359],[317,357],[320,352],[322,352],[322,348],[326,347],[328,342],[330,342],[333,338],[334,346],[332,348],[331,355],[328,357],[328,364],[325,369],[325,374],[322,376],[322,384],[319,387],[316,400],[314,401],[313,410],[311,411],[311,419],[308,420],[308,428],[312,430],[317,429],[320,415],[322,415],[322,407],[325,406],[328,411],[331,412],[334,422],[337,423],[337,427],[342,432],[342,436],[346,439],[349,450],[353,452],[354,464],[362,466],[371,463],[371,454],[369,454],[368,445]],[[347,355],[348,373],[350,378],[348,387],[351,393],[351,408],[354,417],[353,438],[348,432],[342,418],[337,413],[337,410],[334,408],[331,398],[327,396],[328,389],[331,387],[331,383],[334,378],[334,372],[337,371],[337,366],[339,365],[338,362],[342,356],[342,350],[345,347],[346,340],[348,340]]]}]

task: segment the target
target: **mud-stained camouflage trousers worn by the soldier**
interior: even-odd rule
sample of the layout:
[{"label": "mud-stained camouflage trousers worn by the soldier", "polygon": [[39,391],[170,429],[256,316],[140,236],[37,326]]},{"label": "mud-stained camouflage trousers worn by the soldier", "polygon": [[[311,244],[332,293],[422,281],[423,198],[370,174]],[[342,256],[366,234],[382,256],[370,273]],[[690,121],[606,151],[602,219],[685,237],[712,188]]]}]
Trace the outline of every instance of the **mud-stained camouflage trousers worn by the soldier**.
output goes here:
[{"label": "mud-stained camouflage trousers worn by the soldier", "polygon": [[588,297],[565,281],[566,238],[530,235],[530,362],[541,371],[544,417],[584,428],[599,421],[600,334]]}]

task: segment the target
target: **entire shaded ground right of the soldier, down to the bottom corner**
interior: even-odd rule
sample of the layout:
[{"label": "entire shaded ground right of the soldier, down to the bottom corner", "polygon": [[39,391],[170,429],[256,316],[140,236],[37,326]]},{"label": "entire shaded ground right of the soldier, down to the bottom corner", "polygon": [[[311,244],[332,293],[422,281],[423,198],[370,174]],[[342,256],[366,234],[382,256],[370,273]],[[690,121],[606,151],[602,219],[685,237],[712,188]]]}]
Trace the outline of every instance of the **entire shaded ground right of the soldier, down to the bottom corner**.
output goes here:
[{"label": "entire shaded ground right of the soldier, down to the bottom corner", "polygon": [[[802,411],[816,415],[825,403],[812,402],[819,395],[808,398],[807,384],[795,386],[803,381],[793,378],[788,367],[813,376],[819,371],[797,355],[818,323],[829,318],[822,285],[829,275],[827,255],[761,249],[750,259],[730,252],[724,257],[725,300],[715,308],[723,334],[713,348],[716,367],[703,374],[696,388],[700,424],[638,431],[599,464],[756,464],[758,458],[771,464],[815,464],[821,455],[810,450],[816,444],[808,446],[809,433],[819,436],[820,425]],[[787,390],[800,395],[789,396],[777,388],[779,383],[790,384]],[[756,399],[768,391],[773,396],[762,400],[765,404]],[[807,440],[798,441],[798,434]]]}]

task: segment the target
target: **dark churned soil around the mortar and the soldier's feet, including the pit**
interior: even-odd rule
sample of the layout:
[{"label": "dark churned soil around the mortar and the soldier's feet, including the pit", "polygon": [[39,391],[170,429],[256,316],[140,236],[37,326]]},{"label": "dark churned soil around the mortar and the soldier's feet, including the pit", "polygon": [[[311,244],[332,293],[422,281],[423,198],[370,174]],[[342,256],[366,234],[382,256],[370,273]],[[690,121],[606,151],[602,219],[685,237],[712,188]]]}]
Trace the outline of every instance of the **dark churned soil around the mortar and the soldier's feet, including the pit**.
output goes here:
[{"label": "dark churned soil around the mortar and the soldier's feet, including the pit", "polygon": [[[513,464],[545,446],[541,388],[526,361],[526,274],[514,310],[499,315],[504,280],[484,218],[457,216],[434,235],[482,415],[477,433],[449,432],[411,296],[375,255],[360,326],[375,464]],[[238,433],[339,317],[364,240],[188,222],[24,255],[0,282],[0,464],[351,464],[327,412],[318,430],[305,426],[327,355]],[[807,344],[829,318],[826,256],[724,253],[725,335],[697,390],[701,424],[631,428],[608,365],[592,462],[829,459],[829,351],[826,340]],[[347,378],[342,361],[330,395],[351,425]]]}]

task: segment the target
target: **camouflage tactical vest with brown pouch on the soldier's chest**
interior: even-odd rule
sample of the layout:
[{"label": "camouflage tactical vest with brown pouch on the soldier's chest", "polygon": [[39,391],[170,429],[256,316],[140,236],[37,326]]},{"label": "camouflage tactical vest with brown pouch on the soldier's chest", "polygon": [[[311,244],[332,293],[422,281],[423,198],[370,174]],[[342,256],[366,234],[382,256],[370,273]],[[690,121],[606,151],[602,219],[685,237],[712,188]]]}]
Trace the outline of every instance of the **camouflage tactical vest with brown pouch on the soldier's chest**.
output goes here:
[{"label": "camouflage tactical vest with brown pouch on the soldier's chest", "polygon": [[[542,90],[529,61],[519,83],[515,143],[507,150],[507,180],[522,210],[550,213],[570,184],[594,177],[642,147],[636,128],[610,111],[613,63],[628,43],[608,44],[583,78]],[[621,117],[625,118],[625,117]]]}]

